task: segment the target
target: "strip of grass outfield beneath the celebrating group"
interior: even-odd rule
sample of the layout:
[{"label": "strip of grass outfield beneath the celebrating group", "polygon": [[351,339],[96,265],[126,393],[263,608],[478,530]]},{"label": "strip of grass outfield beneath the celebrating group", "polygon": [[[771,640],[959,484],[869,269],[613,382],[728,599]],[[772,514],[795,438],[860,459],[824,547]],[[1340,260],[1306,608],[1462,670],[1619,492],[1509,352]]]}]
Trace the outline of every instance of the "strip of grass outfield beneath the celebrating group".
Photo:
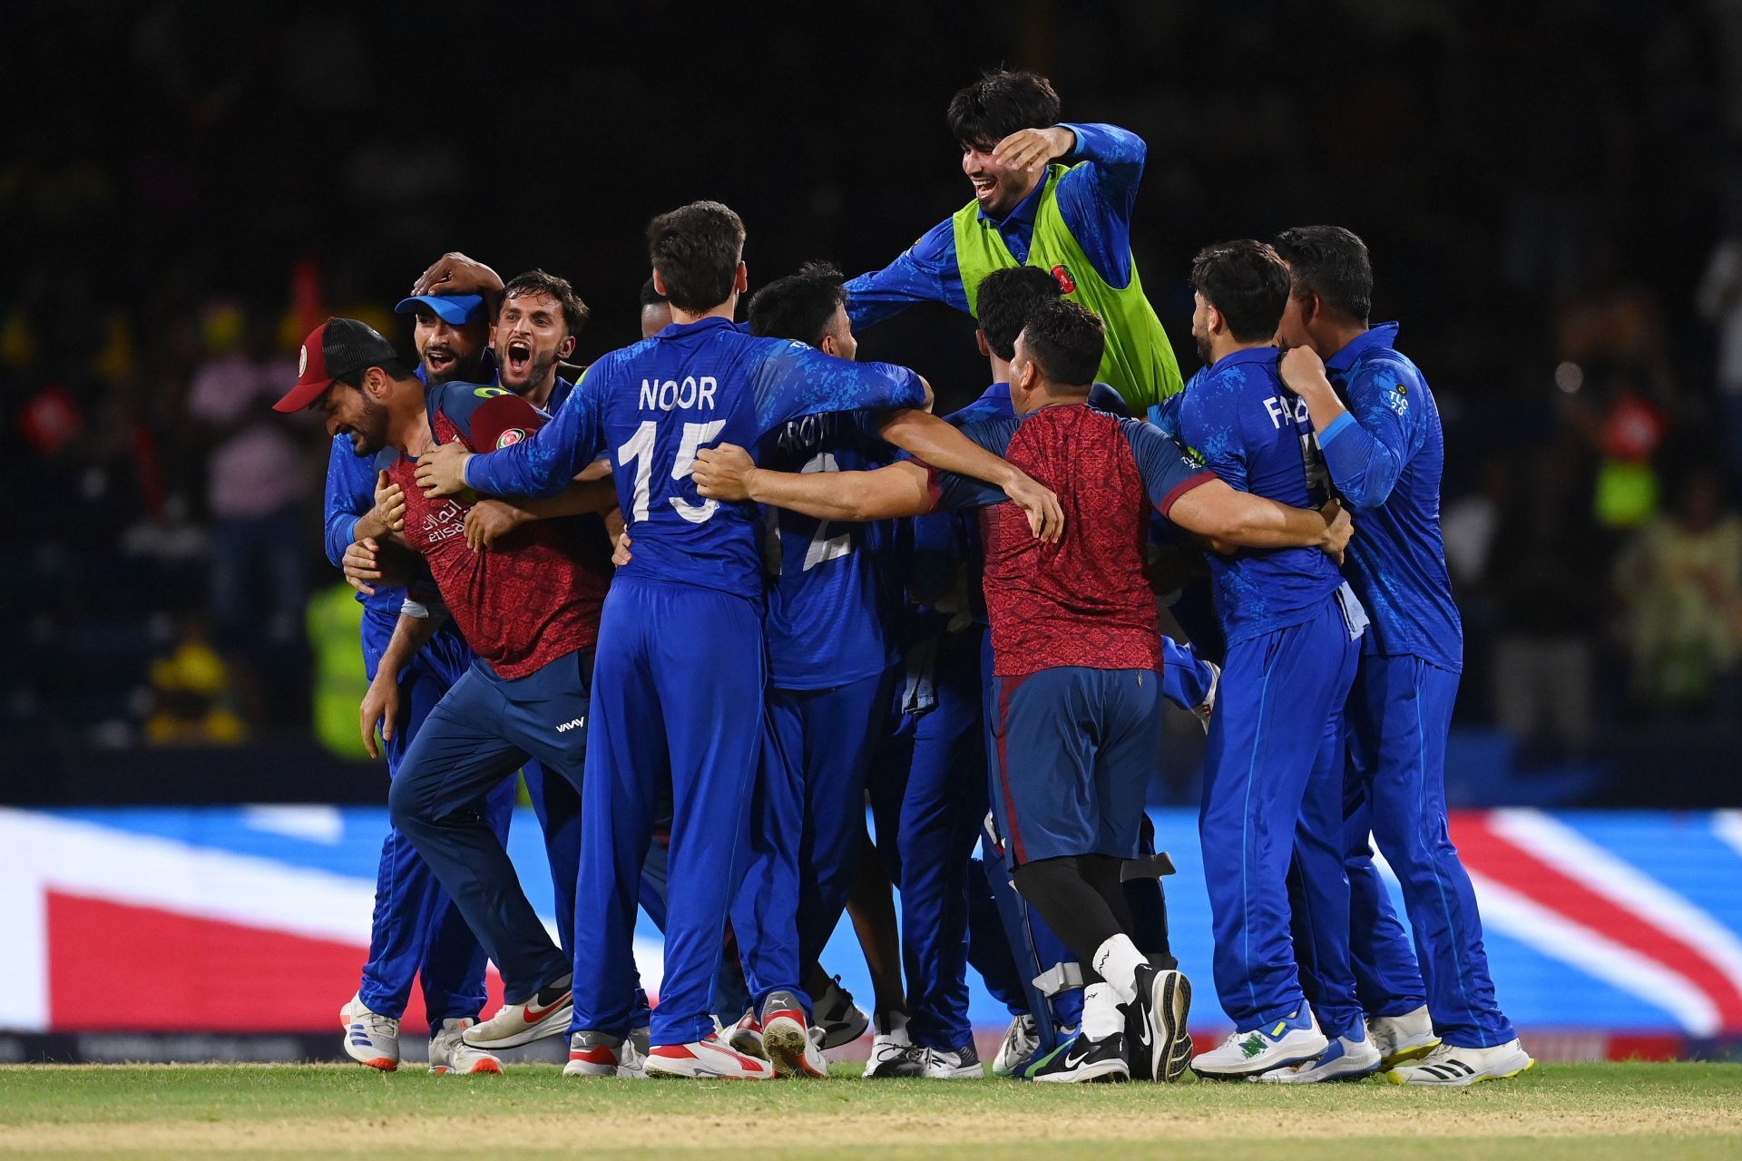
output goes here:
[{"label": "strip of grass outfield beneath the celebrating group", "polygon": [[[854,1069],[852,1072],[857,1072]],[[476,1137],[474,1137],[476,1135]],[[1282,1145],[1279,1138],[1291,1138]],[[573,1081],[355,1065],[0,1067],[0,1156],[71,1158],[1742,1156],[1742,1065],[1536,1065],[1467,1090],[1383,1081]]]}]

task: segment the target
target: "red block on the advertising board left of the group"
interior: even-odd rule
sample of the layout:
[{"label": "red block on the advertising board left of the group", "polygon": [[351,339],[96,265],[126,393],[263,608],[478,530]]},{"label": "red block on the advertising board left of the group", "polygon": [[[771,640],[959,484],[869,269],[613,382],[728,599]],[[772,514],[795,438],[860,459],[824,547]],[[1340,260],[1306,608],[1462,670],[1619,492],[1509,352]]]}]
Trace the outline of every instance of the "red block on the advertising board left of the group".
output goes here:
[{"label": "red block on the advertising board left of the group", "polygon": [[[282,1032],[331,1027],[368,949],[155,907],[47,893],[49,1027],[57,1032]],[[502,1003],[495,968],[484,1011]],[[401,1027],[425,1034],[416,987]]]}]

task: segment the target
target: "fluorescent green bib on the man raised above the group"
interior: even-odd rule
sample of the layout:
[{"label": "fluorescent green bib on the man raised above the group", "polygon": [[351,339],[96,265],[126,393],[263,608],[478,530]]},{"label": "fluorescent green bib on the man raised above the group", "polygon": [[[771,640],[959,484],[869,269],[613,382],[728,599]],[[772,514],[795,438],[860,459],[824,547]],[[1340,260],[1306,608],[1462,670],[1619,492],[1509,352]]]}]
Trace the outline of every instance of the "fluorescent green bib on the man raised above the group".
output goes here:
[{"label": "fluorescent green bib on the man raised above the group", "polygon": [[[1087,162],[1084,162],[1087,164]],[[1141,416],[1153,404],[1174,395],[1183,386],[1172,343],[1162,331],[1150,299],[1143,296],[1143,279],[1138,263],[1131,263],[1131,285],[1115,289],[1096,273],[1084,247],[1071,237],[1059,212],[1059,178],[1064,165],[1052,165],[1040,191],[1040,212],[1035,216],[1035,238],[1028,247],[1028,265],[1066,275],[1066,298],[1082,303],[1106,324],[1106,352],[1101,355],[1101,381],[1118,388],[1132,414]],[[998,228],[979,216],[979,202],[969,202],[955,216],[956,266],[962,272],[962,289],[967,291],[969,313],[979,315],[981,279],[993,270],[1019,266],[1010,247],[1003,244]]]}]

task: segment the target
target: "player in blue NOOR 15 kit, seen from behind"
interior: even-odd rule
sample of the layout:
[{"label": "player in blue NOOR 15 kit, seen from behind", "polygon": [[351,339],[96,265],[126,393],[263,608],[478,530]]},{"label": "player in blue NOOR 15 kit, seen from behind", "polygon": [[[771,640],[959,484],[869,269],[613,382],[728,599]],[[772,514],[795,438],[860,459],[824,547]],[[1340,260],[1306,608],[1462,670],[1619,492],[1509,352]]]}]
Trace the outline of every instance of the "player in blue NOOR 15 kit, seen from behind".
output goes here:
[{"label": "player in blue NOOR 15 kit, seen from behind", "polygon": [[[763,592],[756,510],[695,493],[697,453],[721,439],[756,442],[791,419],[829,411],[918,407],[920,376],[854,364],[784,339],[739,332],[744,225],[718,202],[648,226],[655,287],[672,325],[587,369],[547,430],[488,454],[439,449],[418,472],[429,494],[476,487],[549,494],[610,451],[634,560],[604,602],[589,729],[585,842],[577,926],[596,942],[577,963],[575,1053],[604,1065],[629,1029],[636,882],[658,783],[671,778],[665,976],[653,1011],[652,1076],[768,1079],[822,1074],[807,999],[763,999],[773,1067],[714,1034],[711,987],[763,736]],[[1056,534],[1057,500],[930,416],[897,411],[880,433],[1007,482],[1036,529]],[[791,825],[791,823],[789,823]],[[582,923],[585,917],[585,923]]]}]

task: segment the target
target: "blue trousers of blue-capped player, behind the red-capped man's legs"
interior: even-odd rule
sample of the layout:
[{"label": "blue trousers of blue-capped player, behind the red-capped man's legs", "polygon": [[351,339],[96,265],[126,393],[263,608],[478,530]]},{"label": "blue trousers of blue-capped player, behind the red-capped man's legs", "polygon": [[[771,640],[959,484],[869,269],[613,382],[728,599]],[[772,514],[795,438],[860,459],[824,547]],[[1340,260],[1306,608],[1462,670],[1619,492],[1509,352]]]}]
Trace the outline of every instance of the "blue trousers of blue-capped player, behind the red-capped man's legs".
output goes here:
[{"label": "blue trousers of blue-capped player, behind the red-capped man's legs", "polygon": [[[371,616],[364,611],[362,661],[369,681],[375,681],[395,620],[397,614]],[[383,743],[388,776],[399,773],[423,719],[470,663],[472,654],[460,634],[448,628],[406,667],[399,689],[402,717],[395,722],[394,736]],[[507,837],[512,813],[514,783],[503,782],[483,808],[484,820],[498,839]],[[369,961],[362,966],[357,996],[369,1011],[397,1020],[406,1015],[411,985],[418,978],[430,1027],[441,1027],[449,1018],[476,1018],[484,1006],[484,949],[477,945],[477,936],[465,926],[465,916],[430,874],[423,856],[397,827],[388,827],[375,874]]]}]

